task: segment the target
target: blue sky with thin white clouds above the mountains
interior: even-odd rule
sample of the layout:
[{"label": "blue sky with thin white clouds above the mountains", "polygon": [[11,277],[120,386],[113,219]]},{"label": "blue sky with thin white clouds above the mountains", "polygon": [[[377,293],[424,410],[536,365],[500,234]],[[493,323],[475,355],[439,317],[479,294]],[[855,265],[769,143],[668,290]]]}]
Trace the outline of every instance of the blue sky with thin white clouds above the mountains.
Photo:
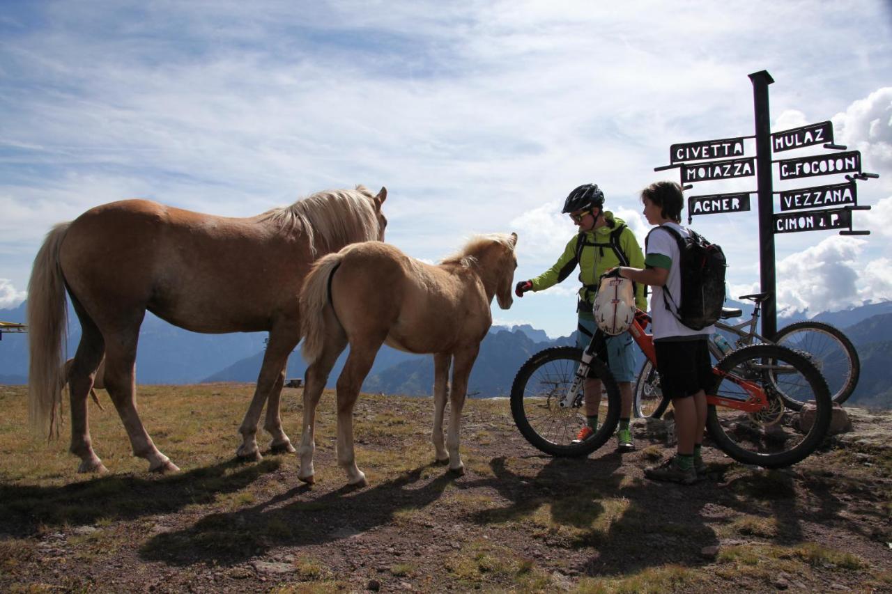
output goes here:
[{"label": "blue sky with thin white clouds above the mountains", "polygon": [[[675,3],[680,4],[680,3]],[[888,2],[11,2],[0,11],[0,308],[26,297],[56,222],[144,197],[250,216],[332,187],[387,186],[387,241],[439,260],[516,231],[516,278],[574,227],[595,182],[643,241],[637,196],[669,146],[833,120],[880,179],[855,228],[776,237],[780,309],[892,299]],[[822,149],[782,153],[799,156]],[[753,154],[747,144],[747,154]],[[841,181],[813,177],[775,189]],[[755,190],[754,177],[690,194]],[[755,208],[755,207],[754,207]],[[758,288],[756,211],[694,219],[731,295]],[[574,328],[571,277],[496,323]]]}]

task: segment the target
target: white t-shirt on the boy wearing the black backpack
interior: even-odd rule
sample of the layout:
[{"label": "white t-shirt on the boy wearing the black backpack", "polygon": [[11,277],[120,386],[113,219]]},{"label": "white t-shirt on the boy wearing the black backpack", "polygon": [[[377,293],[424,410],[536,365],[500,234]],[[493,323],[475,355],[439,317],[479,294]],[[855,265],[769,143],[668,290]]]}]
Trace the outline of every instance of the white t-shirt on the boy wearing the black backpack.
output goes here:
[{"label": "white t-shirt on the boy wearing the black backpack", "polygon": [[[678,223],[668,222],[664,223],[663,226],[673,227],[673,229],[681,233],[682,237],[690,235],[688,229],[681,227]],[[668,289],[671,295],[671,298],[668,300],[669,307],[674,311],[673,303],[675,305],[681,304],[680,253],[674,235],[671,235],[670,231],[663,231],[660,230],[660,227],[656,227],[648,236],[648,249],[644,260],[648,266],[654,267],[655,264],[665,263],[665,258],[662,257],[669,258],[669,260],[672,260],[672,263],[665,286],[650,287],[652,291],[650,295],[650,317],[653,320],[654,340],[685,340],[702,338],[708,334],[713,334],[715,332],[714,326],[706,326],[700,330],[694,330],[681,324],[672,311],[666,310],[665,300],[663,299],[663,292],[666,289]],[[665,268],[665,266],[658,266],[657,268]]]}]

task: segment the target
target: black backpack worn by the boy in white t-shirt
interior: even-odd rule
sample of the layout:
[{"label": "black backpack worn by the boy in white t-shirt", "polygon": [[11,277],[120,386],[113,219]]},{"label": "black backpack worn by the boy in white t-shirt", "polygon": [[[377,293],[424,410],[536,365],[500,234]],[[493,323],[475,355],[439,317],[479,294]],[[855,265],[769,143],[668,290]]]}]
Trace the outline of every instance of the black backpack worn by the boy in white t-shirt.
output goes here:
[{"label": "black backpack worn by the boy in white t-shirt", "polygon": [[[663,300],[666,309],[678,318],[681,324],[692,330],[701,330],[714,324],[722,315],[725,301],[724,276],[728,263],[722,248],[715,243],[709,243],[702,235],[690,229],[688,229],[690,236],[687,238],[682,237],[681,233],[668,225],[655,227],[650,233],[656,229],[665,229],[673,235],[681,254],[679,261],[681,300],[674,300],[669,288],[664,286]],[[645,249],[650,233],[644,241]],[[672,301],[674,307],[669,307],[669,301]]]}]

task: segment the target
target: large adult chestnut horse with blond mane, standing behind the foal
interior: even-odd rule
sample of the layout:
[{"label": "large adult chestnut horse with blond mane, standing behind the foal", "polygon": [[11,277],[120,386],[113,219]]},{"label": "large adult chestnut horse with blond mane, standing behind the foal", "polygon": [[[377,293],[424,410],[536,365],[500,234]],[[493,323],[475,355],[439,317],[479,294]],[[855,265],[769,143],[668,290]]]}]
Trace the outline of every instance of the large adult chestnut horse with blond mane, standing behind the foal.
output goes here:
[{"label": "large adult chestnut horse with blond mane, standing behind the foal", "polygon": [[70,372],[71,452],[80,472],[104,471],[87,424],[87,393],[105,354],[105,386],[133,453],[150,471],[178,470],[136,413],[134,365],[145,311],[203,333],[268,331],[257,388],[239,432],[239,458],[260,459],[264,428],[273,451],[294,451],[282,431],[279,395],[288,355],[300,339],[299,296],[318,256],[382,240],[387,191],[312,194],[290,206],[230,219],[145,200],[111,202],[54,227],[37,252],[29,282],[29,412],[32,425],[58,434],[65,292],[82,335]]}]

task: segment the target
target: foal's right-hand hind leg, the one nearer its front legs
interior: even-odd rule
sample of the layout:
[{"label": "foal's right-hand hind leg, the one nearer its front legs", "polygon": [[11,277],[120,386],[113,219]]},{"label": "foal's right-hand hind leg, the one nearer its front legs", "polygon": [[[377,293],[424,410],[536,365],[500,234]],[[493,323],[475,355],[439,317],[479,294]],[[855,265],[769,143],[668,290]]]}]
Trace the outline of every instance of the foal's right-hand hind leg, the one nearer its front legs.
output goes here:
[{"label": "foal's right-hand hind leg, the one nearer its front legs", "polygon": [[337,464],[347,473],[347,483],[360,487],[368,482],[356,466],[353,453],[353,405],[385,337],[386,334],[376,341],[351,342],[350,355],[337,380]]}]

